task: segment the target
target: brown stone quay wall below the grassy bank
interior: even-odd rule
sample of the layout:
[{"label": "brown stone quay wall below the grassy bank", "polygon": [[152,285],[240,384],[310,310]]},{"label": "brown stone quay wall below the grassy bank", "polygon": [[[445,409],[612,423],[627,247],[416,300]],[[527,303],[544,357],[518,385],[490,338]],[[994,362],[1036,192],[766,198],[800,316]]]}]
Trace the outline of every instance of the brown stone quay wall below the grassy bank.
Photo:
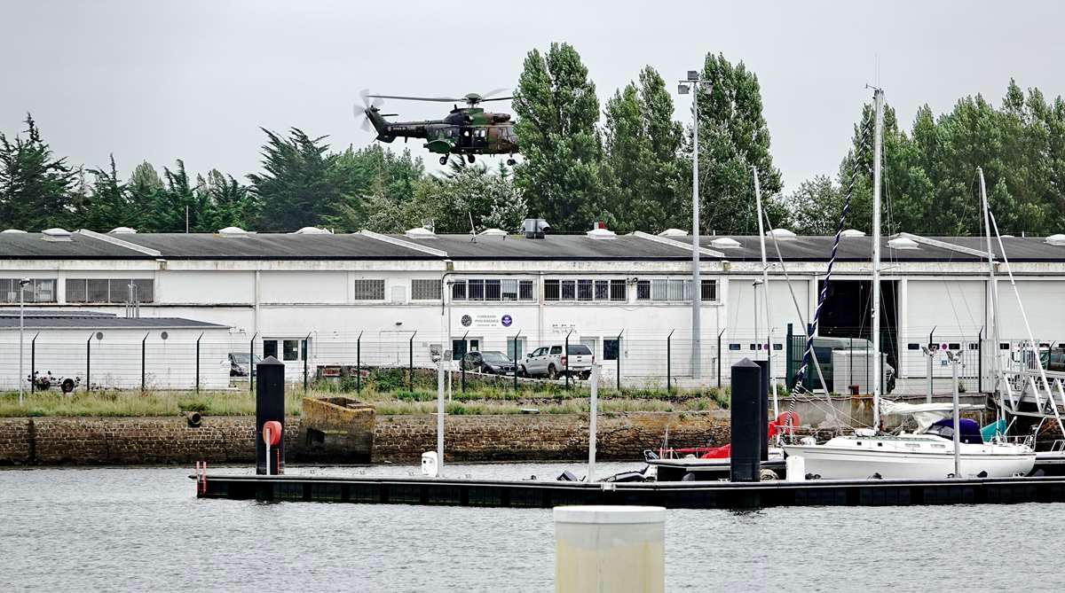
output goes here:
[{"label": "brown stone quay wall below the grassy bank", "polygon": [[[285,421],[285,457],[313,460],[301,420]],[[625,412],[601,414],[597,458],[639,459],[660,445],[669,426],[671,446],[728,442],[728,413]],[[363,430],[370,430],[364,426]],[[587,414],[450,416],[445,424],[446,456],[453,461],[576,460],[588,455]],[[377,416],[372,461],[416,462],[437,446],[432,414]],[[302,439],[302,440],[301,440]],[[356,454],[332,462],[365,461]],[[255,461],[253,417],[203,417],[198,428],[184,418],[9,418],[0,419],[0,465],[119,465]]]}]

